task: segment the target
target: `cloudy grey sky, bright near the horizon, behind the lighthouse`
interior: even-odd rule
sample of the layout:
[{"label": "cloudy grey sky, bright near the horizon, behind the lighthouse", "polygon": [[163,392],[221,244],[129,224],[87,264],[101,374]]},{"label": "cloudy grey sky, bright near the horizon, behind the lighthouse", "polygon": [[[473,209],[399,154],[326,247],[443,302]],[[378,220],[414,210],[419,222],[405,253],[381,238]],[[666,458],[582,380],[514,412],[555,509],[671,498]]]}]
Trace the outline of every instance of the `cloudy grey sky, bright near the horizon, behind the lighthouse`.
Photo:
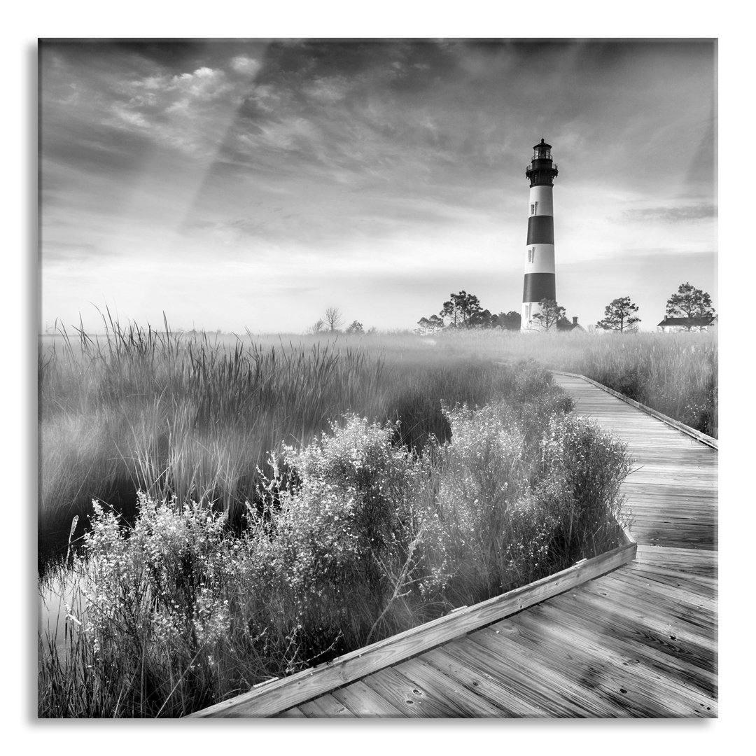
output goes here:
[{"label": "cloudy grey sky, bright near the horizon, behind the lighthouse", "polygon": [[542,136],[568,316],[718,308],[711,41],[48,41],[39,78],[43,328],[519,311]]}]

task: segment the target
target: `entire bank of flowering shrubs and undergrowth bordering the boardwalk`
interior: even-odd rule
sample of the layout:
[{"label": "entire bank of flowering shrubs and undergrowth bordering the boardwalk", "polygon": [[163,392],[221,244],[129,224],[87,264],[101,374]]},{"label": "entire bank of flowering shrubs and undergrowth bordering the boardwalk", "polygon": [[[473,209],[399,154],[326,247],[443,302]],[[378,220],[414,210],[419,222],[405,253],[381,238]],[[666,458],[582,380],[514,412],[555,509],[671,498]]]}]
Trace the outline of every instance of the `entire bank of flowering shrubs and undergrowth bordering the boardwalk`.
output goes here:
[{"label": "entire bank of flowering shrubs and undergrowth bordering the boardwalk", "polygon": [[545,370],[498,375],[495,401],[445,405],[433,454],[353,413],[283,445],[239,533],[207,504],[141,493],[124,528],[95,503],[40,715],[181,716],[615,546],[624,447]]}]

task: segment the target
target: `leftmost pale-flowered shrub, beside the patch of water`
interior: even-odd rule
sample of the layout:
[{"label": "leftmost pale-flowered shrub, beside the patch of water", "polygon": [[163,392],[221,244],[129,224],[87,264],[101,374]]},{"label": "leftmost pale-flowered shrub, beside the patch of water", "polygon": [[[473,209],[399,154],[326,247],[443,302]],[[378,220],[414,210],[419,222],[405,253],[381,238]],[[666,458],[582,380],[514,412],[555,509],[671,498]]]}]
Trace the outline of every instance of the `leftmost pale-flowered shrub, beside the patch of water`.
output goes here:
[{"label": "leftmost pale-flowered shrub, beside the patch of water", "polygon": [[[100,503],[93,507],[79,558],[91,680],[100,696],[122,699],[122,711],[159,710],[177,689],[183,705],[197,702],[189,692],[208,687],[212,649],[230,626],[225,517],[140,493],[127,531]],[[124,677],[138,679],[125,695]]]}]

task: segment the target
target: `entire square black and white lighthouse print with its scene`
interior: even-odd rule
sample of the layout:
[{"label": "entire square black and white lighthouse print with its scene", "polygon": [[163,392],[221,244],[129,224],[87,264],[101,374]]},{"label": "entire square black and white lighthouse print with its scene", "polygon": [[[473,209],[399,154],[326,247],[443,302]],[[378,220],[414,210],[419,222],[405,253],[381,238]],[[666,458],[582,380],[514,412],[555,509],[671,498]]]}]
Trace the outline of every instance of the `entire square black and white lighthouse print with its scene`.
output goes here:
[{"label": "entire square black and white lighthouse print with its scene", "polygon": [[719,716],[719,42],[536,34],[36,42],[39,720]]}]

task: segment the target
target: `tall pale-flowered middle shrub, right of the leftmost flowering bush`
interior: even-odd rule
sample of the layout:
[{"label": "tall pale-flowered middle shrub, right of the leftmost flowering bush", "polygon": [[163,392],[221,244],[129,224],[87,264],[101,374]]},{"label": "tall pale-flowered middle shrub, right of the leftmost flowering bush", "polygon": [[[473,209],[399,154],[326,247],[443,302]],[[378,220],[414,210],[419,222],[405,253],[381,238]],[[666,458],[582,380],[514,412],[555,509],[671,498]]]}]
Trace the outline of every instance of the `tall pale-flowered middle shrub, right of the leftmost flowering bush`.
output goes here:
[{"label": "tall pale-flowered middle shrub, right of the leftmost flowering bush", "polygon": [[280,491],[280,473],[267,482],[279,490],[277,506],[246,542],[265,553],[276,573],[268,573],[270,583],[280,586],[305,647],[313,626],[321,641],[330,633],[328,646],[369,636],[414,580],[427,476],[414,454],[392,444],[394,434],[392,423],[346,415],[320,442],[284,448],[296,485]]}]

